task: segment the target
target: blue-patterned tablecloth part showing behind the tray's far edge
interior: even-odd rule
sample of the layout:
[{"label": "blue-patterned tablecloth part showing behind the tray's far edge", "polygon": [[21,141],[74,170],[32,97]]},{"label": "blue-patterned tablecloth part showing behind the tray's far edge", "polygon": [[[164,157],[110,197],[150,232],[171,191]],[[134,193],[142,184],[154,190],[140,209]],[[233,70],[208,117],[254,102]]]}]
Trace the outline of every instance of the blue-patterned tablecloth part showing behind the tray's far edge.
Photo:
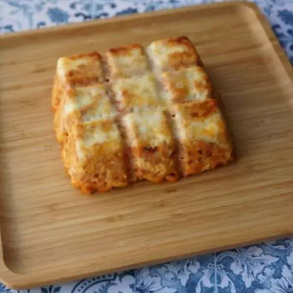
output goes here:
[{"label": "blue-patterned tablecloth part showing behind the tray's far edge", "polygon": [[[219,0],[0,0],[0,32],[42,28]],[[221,1],[221,0],[220,0]],[[254,0],[293,63],[293,0]]]}]

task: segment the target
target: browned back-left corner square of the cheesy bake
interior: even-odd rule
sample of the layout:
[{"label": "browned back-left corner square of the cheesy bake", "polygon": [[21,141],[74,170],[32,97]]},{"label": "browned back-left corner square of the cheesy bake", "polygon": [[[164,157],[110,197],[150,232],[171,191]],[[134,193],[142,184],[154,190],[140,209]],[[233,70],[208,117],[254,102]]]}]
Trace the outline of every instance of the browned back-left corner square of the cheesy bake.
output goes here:
[{"label": "browned back-left corner square of the cheesy bake", "polygon": [[103,83],[101,60],[97,52],[62,57],[57,62],[57,76],[62,83],[71,86]]}]

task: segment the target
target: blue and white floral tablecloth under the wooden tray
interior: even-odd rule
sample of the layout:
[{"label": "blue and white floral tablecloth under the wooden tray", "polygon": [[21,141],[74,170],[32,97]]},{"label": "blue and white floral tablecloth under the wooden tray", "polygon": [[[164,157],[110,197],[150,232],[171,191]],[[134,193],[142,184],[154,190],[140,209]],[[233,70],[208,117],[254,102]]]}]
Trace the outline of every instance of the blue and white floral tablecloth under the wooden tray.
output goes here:
[{"label": "blue and white floral tablecloth under the wooden tray", "polygon": [[[0,0],[0,33],[212,0]],[[255,0],[293,63],[293,0]],[[293,239],[19,293],[293,293]]]}]

